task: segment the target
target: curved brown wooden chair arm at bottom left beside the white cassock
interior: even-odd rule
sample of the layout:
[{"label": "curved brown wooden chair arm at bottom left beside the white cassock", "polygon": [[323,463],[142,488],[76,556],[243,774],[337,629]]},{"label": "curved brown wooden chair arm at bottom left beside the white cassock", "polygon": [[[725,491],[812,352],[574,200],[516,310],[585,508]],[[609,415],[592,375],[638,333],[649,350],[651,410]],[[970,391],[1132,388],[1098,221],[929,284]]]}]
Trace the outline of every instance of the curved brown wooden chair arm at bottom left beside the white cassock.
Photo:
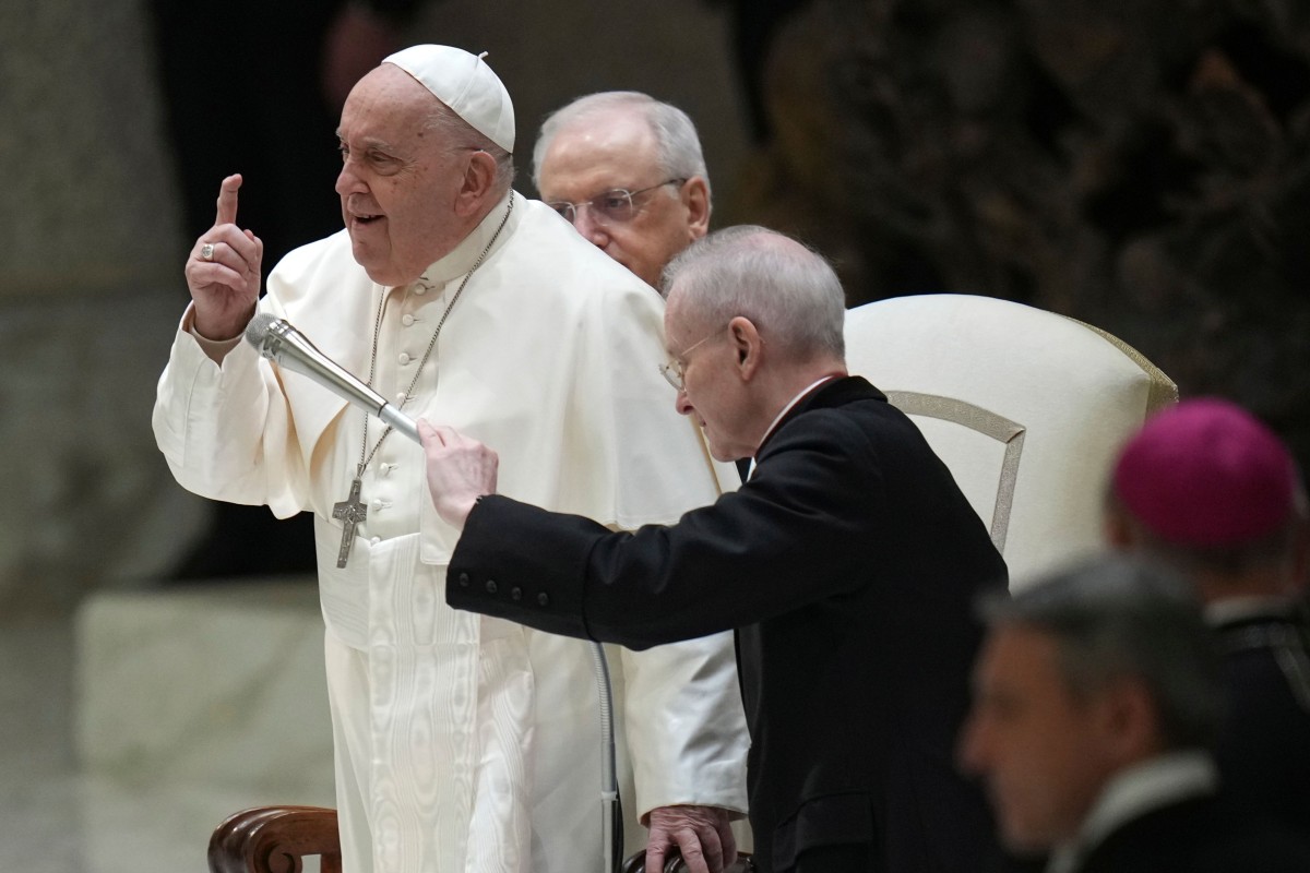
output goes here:
[{"label": "curved brown wooden chair arm at bottom left beside the white cassock", "polygon": [[210,873],[300,873],[318,855],[321,873],[341,873],[337,810],[257,806],[229,815],[210,838]]}]

